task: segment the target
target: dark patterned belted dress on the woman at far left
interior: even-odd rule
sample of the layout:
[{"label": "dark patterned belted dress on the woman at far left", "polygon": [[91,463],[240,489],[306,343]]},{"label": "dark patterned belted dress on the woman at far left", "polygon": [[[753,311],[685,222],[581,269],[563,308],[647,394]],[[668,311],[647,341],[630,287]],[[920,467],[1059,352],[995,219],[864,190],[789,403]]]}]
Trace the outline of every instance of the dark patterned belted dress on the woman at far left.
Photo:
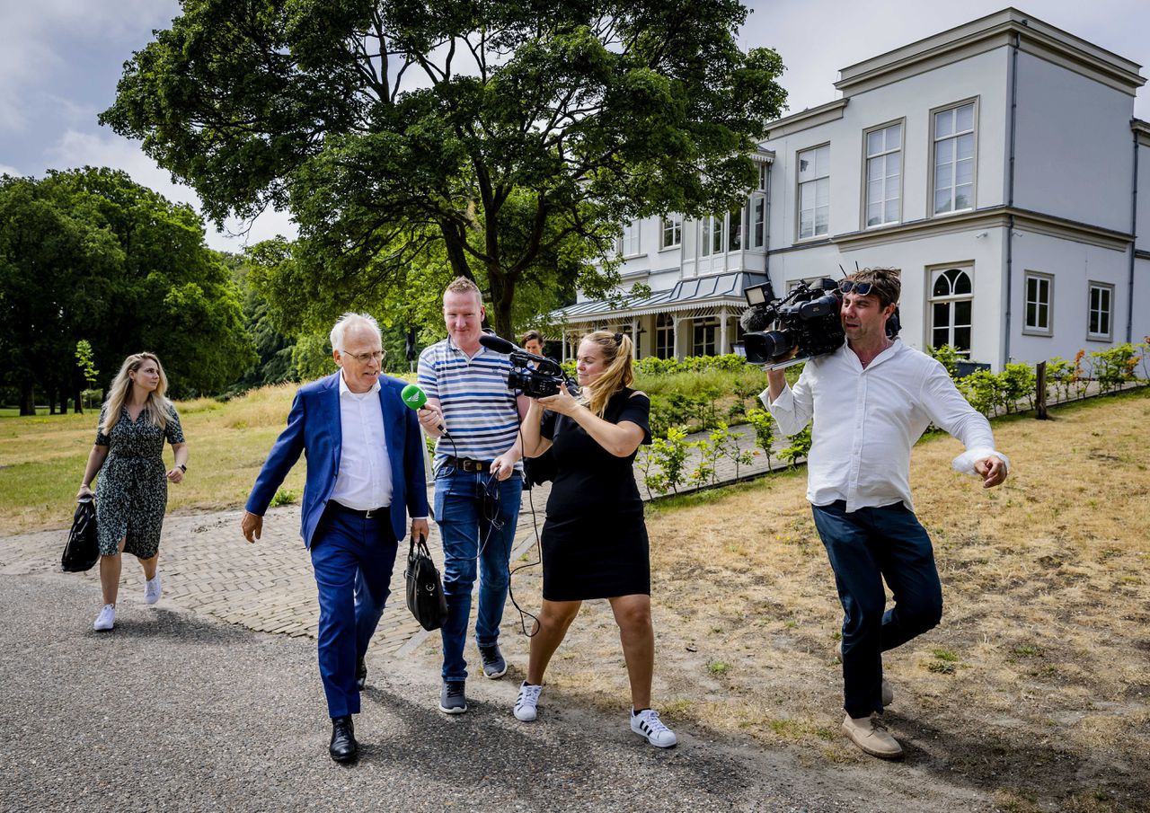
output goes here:
[{"label": "dark patterned belted dress on the woman at far left", "polygon": [[[107,406],[105,406],[107,409]],[[100,411],[103,425],[105,411]],[[168,412],[168,425],[152,423],[145,411],[132,421],[128,407],[108,435],[99,429],[98,446],[108,446],[108,457],[95,483],[95,528],[100,555],[115,555],[126,537],[124,553],[151,559],[160,551],[163,512],[168,506],[168,477],[163,466],[163,442],[184,443],[176,409]]]}]

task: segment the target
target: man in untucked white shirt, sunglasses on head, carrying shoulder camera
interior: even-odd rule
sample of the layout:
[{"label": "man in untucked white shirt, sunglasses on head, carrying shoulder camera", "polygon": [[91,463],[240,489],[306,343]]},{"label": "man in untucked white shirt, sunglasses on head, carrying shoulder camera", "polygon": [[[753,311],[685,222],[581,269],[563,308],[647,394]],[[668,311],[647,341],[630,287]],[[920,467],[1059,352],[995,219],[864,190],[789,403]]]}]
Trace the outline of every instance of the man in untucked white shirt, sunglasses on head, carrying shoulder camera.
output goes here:
[{"label": "man in untucked white shirt, sunglasses on head, carrying shoulder camera", "polygon": [[894,759],[903,749],[876,716],[894,699],[882,653],[942,618],[934,551],[911,503],[911,447],[934,423],[966,446],[954,468],[987,489],[1006,478],[1009,461],[943,366],[887,335],[896,274],[864,269],[839,291],[845,344],[807,360],[793,390],[782,370],[769,370],[760,399],[787,435],[814,420],[806,497],[843,605],[843,729],[862,751]]}]

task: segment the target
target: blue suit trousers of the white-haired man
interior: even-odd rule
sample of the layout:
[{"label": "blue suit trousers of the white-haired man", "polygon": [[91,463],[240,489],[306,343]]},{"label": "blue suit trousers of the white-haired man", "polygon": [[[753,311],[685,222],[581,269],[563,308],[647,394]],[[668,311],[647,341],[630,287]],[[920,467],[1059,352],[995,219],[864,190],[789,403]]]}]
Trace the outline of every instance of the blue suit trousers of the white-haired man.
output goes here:
[{"label": "blue suit trousers of the white-haired man", "polygon": [[320,590],[320,676],[332,718],[359,714],[355,661],[367,652],[383,615],[397,547],[388,512],[365,520],[329,509],[312,538]]}]

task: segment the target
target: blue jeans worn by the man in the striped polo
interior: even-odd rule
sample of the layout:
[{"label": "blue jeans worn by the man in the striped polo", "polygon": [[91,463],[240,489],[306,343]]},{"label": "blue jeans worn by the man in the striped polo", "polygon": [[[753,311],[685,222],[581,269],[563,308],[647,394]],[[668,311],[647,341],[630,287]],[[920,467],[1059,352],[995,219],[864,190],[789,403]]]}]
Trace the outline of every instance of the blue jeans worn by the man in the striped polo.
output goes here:
[{"label": "blue jeans worn by the man in the striped polo", "polygon": [[471,614],[471,588],[480,576],[475,643],[499,641],[507,600],[508,570],[523,481],[519,474],[499,482],[490,473],[443,468],[435,481],[435,515],[443,539],[443,591],[447,621],[443,637],[443,678],[467,680],[463,639]]}]

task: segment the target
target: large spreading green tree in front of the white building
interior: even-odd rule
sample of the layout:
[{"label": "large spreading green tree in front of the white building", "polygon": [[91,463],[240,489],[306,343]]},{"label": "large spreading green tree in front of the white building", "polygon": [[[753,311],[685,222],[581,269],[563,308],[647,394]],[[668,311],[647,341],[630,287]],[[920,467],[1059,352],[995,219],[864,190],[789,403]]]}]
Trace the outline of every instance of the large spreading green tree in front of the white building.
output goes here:
[{"label": "large spreading green tree in front of the white building", "polygon": [[[494,0],[183,0],[100,120],[216,222],[290,208],[293,262],[346,294],[476,279],[494,327],[604,293],[620,223],[738,204],[784,91],[746,9]],[[534,292],[534,293],[532,293]]]}]

